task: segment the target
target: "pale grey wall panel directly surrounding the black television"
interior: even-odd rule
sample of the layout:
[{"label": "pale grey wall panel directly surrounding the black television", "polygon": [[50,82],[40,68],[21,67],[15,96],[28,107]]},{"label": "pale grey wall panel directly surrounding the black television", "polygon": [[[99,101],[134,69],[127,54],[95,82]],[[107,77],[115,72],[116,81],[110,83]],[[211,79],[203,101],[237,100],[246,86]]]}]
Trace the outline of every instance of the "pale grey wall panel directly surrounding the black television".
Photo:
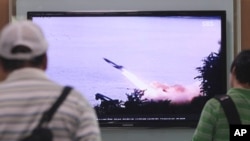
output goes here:
[{"label": "pale grey wall panel directly surrounding the black television", "polygon": [[[25,19],[27,11],[83,10],[226,10],[227,49],[229,63],[233,54],[233,0],[17,0],[17,19]],[[229,68],[228,63],[228,68]],[[104,141],[188,141],[191,128],[102,128]]]}]

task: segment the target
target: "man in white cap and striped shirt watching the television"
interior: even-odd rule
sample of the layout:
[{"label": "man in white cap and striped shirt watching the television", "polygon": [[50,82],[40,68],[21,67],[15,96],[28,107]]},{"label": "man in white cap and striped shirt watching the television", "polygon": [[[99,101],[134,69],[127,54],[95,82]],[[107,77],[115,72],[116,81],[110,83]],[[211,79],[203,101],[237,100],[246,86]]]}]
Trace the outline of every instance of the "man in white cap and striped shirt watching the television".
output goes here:
[{"label": "man in white cap and striped shirt watching the television", "polygon": [[[48,44],[31,21],[10,23],[0,34],[0,140],[29,136],[42,115],[60,96],[63,86],[50,80]],[[96,114],[76,90],[72,90],[47,127],[54,141],[100,141]]]}]

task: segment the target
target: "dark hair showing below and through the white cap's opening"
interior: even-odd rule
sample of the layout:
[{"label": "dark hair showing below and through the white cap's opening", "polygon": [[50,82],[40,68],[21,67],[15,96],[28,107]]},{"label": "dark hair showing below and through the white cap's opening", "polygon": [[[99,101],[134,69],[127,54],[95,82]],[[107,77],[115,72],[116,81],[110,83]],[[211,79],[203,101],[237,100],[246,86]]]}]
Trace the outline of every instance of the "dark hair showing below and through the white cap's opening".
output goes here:
[{"label": "dark hair showing below and through the white cap's opening", "polygon": [[[31,50],[29,47],[26,46],[16,46],[14,47],[11,52],[13,54],[17,53],[30,53]],[[5,71],[11,72],[16,69],[20,69],[23,67],[26,67],[27,65],[29,67],[35,67],[38,68],[43,64],[44,58],[46,57],[46,54],[39,55],[37,57],[34,57],[31,60],[17,60],[17,59],[6,59],[3,57],[0,57],[0,61],[2,63],[2,67]]]}]

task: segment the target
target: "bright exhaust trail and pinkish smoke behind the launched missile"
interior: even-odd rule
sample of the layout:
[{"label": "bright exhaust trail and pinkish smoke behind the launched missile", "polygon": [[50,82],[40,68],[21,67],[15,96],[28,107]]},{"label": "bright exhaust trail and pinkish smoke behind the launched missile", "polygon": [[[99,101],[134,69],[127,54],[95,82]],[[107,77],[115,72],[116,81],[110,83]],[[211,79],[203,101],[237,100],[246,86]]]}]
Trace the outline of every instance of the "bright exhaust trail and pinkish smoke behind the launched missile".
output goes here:
[{"label": "bright exhaust trail and pinkish smoke behind the launched missile", "polygon": [[196,82],[191,85],[168,85],[160,82],[146,84],[136,75],[126,69],[122,69],[122,74],[130,80],[138,89],[146,90],[143,99],[148,100],[171,100],[171,103],[187,103],[194,97],[200,95],[200,83]]}]

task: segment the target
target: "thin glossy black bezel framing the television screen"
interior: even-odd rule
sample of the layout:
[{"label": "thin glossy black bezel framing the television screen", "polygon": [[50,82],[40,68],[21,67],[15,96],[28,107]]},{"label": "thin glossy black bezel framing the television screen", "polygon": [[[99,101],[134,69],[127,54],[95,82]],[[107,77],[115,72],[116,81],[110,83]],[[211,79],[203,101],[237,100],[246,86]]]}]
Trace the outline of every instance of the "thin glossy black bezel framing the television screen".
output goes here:
[{"label": "thin glossy black bezel framing the television screen", "polygon": [[[221,49],[225,54],[225,79],[224,88],[227,90],[227,49],[226,49],[226,11],[225,10],[192,10],[192,11],[28,11],[27,19],[33,17],[81,17],[81,16],[219,16],[221,17]],[[198,115],[199,116],[199,115]],[[99,121],[101,127],[191,127],[195,128],[197,120],[173,120],[173,121]]]}]

